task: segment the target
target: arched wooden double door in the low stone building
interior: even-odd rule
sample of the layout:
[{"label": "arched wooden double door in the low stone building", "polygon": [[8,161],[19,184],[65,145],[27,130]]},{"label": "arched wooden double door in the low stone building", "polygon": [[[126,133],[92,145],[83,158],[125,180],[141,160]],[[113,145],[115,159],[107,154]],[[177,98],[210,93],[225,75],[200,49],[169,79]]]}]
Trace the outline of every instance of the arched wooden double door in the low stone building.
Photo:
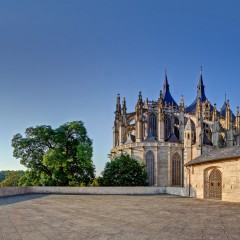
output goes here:
[{"label": "arched wooden double door in the low stone building", "polygon": [[205,183],[205,198],[222,199],[222,173],[219,169],[214,168],[207,174]]}]

